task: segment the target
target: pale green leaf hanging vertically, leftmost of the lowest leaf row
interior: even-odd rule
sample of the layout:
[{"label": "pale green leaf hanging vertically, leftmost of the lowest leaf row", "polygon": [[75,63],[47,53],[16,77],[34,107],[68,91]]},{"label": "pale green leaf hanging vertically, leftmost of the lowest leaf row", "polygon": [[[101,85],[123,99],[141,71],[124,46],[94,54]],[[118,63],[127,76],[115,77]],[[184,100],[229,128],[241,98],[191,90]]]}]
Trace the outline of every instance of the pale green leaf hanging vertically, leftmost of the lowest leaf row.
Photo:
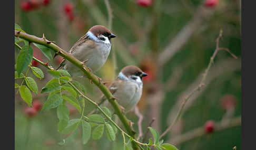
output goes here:
[{"label": "pale green leaf hanging vertically, leftmost of the lowest leaf row", "polygon": [[68,115],[69,115],[69,111],[66,105],[62,104],[58,106],[57,117],[60,120],[60,122],[58,122],[58,132],[62,132],[64,128],[67,126],[68,120],[69,120]]}]

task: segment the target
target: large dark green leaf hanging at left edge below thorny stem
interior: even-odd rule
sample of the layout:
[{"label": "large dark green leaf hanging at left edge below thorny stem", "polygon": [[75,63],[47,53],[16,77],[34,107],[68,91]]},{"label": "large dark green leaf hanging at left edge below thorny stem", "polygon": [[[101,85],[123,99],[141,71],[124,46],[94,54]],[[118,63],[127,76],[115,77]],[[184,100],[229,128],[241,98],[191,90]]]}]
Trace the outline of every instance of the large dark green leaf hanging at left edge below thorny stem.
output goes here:
[{"label": "large dark green leaf hanging at left edge below thorny stem", "polygon": [[17,57],[17,72],[21,74],[22,71],[27,69],[29,63],[31,63],[33,58],[33,49],[28,46],[24,46],[19,52]]}]

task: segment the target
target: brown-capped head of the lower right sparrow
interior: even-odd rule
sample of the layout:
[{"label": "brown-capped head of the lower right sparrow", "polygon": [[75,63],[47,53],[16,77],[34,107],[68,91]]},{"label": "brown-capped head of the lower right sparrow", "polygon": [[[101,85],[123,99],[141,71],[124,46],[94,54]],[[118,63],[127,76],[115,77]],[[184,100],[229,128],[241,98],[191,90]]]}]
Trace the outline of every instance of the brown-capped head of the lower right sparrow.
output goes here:
[{"label": "brown-capped head of the lower right sparrow", "polygon": [[147,74],[136,66],[126,66],[118,75],[122,80],[130,80],[138,83],[142,83],[142,78],[145,76],[147,76]]}]

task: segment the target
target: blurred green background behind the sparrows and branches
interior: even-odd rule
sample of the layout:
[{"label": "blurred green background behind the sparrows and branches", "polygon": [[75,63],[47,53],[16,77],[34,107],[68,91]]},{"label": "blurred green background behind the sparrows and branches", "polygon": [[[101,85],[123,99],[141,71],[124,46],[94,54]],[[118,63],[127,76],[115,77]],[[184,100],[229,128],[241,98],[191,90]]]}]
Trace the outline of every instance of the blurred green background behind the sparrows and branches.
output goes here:
[{"label": "blurred green background behind the sparrows and branches", "polygon": [[[221,122],[227,110],[227,95],[235,101],[230,118],[241,115],[241,1],[220,0],[216,6],[206,7],[204,0],[155,0],[149,6],[141,6],[136,1],[110,0],[112,24],[108,20],[108,12],[104,0],[49,1],[34,0],[34,9],[25,10],[24,2],[15,1],[15,23],[26,33],[42,37],[68,51],[72,45],[94,25],[109,27],[117,38],[112,40],[109,59],[96,75],[104,81],[112,81],[116,74],[127,65],[136,65],[149,74],[144,79],[143,95],[138,106],[144,115],[143,133],[153,117],[152,126],[161,134],[172,122],[173,115],[178,112],[182,99],[198,85],[203,71],[208,66],[210,57],[216,47],[216,38],[223,30],[220,50],[205,80],[205,87],[195,94],[187,103],[181,120],[168,135],[165,143],[174,144],[179,149],[241,149],[241,126],[229,127],[225,130],[192,138],[179,144],[172,143],[175,137],[202,127],[206,121]],[[73,19],[65,13],[65,5],[73,6]],[[170,45],[170,46],[169,46]],[[169,46],[169,49],[168,49]],[[174,51],[172,57],[161,63],[161,53],[168,49]],[[48,60],[33,46],[34,56],[44,62]],[[15,60],[18,49],[15,47]],[[48,62],[54,68],[60,61],[56,57]],[[39,66],[44,72],[46,69]],[[29,77],[35,76],[29,73]],[[51,76],[45,72],[43,80],[36,80],[41,90]],[[74,78],[73,78],[74,79]],[[87,79],[74,79],[86,87],[86,95],[99,101],[100,90],[88,83]],[[16,79],[21,83],[20,79]],[[17,90],[15,90],[15,93]],[[226,97],[225,97],[226,96]],[[45,102],[43,94],[33,95],[33,101]],[[56,109],[38,112],[29,118],[24,110],[27,104],[15,94],[15,149],[122,149],[122,135],[117,133],[116,141],[109,142],[104,133],[101,140],[90,140],[82,145],[78,135],[73,143],[65,146],[56,144],[65,135],[57,132],[58,119]],[[86,105],[86,113],[92,106]],[[77,111],[70,109],[70,119],[79,117]],[[133,112],[127,117],[133,121],[137,130],[138,118]],[[121,124],[120,124],[121,125]],[[122,125],[121,125],[122,127]],[[29,133],[29,135],[28,135]],[[147,138],[151,135],[148,134]],[[29,137],[29,138],[27,138]],[[25,147],[25,141],[27,147]],[[148,142],[148,141],[146,141]]]}]

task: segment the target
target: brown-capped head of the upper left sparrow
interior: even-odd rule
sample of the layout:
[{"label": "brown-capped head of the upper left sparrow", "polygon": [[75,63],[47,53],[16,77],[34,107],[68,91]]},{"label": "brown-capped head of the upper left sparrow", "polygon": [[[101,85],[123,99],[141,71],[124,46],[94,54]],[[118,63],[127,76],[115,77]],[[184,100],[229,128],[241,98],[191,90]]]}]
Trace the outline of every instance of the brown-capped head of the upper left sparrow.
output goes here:
[{"label": "brown-capped head of the upper left sparrow", "polygon": [[106,44],[110,44],[111,38],[116,37],[109,29],[100,25],[91,27],[87,32],[87,36],[94,41],[104,42]]}]

